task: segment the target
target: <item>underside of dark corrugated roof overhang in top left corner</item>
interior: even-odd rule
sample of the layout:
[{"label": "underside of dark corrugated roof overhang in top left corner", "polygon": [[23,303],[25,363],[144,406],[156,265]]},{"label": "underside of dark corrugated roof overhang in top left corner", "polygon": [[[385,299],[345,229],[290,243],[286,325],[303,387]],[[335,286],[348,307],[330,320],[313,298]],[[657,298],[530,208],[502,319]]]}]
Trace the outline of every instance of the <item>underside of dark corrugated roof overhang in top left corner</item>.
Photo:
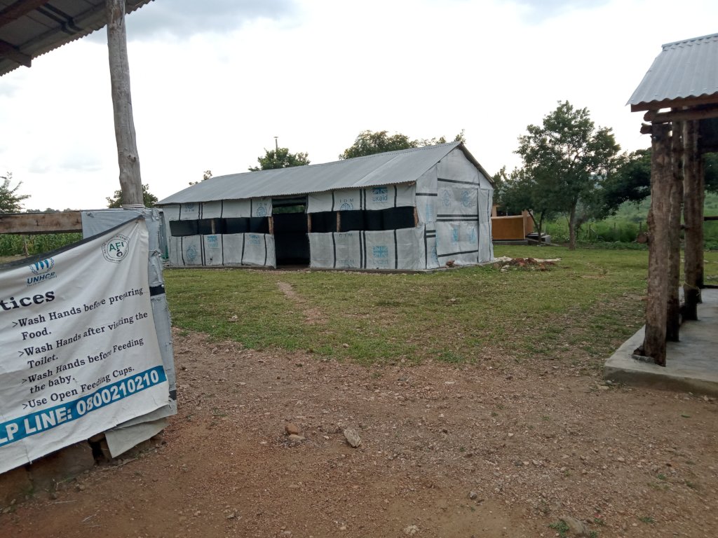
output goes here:
[{"label": "underside of dark corrugated roof overhang in top left corner", "polygon": [[[151,0],[126,0],[126,13]],[[105,0],[0,0],[0,76],[107,24]]]}]

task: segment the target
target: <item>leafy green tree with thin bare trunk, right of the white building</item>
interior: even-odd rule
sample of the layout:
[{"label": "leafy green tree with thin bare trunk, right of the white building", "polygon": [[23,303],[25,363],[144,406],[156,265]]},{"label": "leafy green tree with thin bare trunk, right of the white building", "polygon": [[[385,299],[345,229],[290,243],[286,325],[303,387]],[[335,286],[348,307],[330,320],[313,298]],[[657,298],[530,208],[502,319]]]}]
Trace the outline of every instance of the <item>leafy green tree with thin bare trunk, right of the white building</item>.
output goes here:
[{"label": "leafy green tree with thin bare trunk, right of the white building", "polygon": [[610,128],[595,127],[587,108],[568,101],[526,131],[516,150],[522,174],[531,178],[531,188],[546,193],[551,211],[567,215],[573,250],[581,225],[602,210],[602,181],[615,169],[620,146]]}]

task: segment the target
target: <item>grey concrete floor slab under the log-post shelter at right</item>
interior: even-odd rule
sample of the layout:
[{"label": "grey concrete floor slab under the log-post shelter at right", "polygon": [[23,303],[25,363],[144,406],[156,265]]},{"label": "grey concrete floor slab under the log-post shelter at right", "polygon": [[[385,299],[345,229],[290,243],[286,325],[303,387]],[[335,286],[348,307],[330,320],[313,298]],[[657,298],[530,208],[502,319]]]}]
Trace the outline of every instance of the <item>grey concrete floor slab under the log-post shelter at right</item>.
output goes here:
[{"label": "grey concrete floor slab under the log-post shelter at right", "polygon": [[668,342],[666,366],[633,358],[643,344],[645,327],[607,359],[605,379],[630,385],[718,395],[718,289],[704,289],[698,306],[699,321],[681,325],[679,342]]}]

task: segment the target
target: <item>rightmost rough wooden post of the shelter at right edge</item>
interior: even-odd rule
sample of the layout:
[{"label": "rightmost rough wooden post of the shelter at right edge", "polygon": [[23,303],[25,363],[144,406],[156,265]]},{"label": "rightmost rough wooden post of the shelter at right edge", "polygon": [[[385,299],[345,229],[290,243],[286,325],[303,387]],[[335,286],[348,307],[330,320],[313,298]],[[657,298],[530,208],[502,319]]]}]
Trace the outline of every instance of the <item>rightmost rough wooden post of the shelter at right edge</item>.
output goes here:
[{"label": "rightmost rough wooden post of the shelter at right edge", "polygon": [[684,128],[685,183],[684,223],[686,246],[684,261],[684,319],[698,319],[703,287],[703,204],[704,177],[698,149],[698,125],[688,121]]}]

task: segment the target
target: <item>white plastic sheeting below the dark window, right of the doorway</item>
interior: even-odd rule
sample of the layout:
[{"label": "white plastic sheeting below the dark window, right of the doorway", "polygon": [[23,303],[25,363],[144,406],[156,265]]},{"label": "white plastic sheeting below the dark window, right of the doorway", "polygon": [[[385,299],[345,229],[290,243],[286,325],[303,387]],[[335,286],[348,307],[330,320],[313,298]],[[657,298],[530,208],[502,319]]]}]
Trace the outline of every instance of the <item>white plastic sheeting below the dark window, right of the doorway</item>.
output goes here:
[{"label": "white plastic sheeting below the dark window, right of the doorway", "polygon": [[311,267],[424,269],[424,227],[385,232],[310,233]]}]

